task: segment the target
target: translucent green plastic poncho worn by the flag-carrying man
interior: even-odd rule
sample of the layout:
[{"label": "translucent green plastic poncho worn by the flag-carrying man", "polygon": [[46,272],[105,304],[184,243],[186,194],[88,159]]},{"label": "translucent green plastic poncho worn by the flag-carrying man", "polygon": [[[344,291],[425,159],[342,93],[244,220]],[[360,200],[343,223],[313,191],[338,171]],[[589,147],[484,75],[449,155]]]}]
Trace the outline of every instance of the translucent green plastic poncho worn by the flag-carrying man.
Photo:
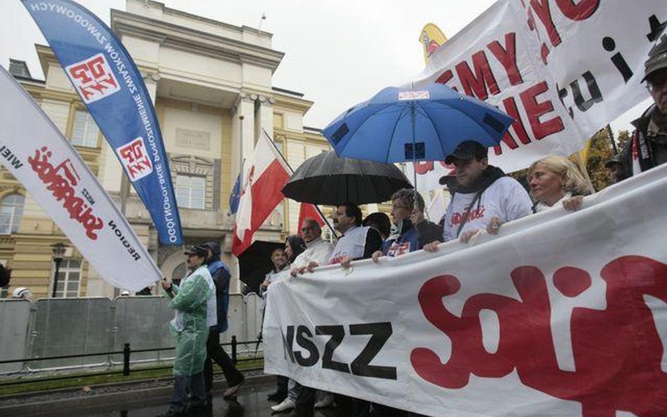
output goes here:
[{"label": "translucent green plastic poncho worn by the flag-carrying man", "polygon": [[187,276],[179,286],[172,285],[174,297],[170,307],[176,316],[170,330],[176,338],[174,375],[192,376],[204,369],[206,359],[206,302],[214,295],[213,281],[208,268],[203,265]]}]

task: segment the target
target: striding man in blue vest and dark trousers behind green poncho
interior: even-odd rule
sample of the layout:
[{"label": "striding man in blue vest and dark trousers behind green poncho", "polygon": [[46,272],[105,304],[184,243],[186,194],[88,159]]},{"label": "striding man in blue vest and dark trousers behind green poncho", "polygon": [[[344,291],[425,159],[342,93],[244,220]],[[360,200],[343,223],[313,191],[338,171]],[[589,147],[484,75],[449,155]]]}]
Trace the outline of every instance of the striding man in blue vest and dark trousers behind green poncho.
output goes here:
[{"label": "striding man in blue vest and dark trousers behind green poncho", "polygon": [[208,357],[204,364],[204,379],[206,383],[206,394],[208,397],[208,406],[212,406],[213,387],[213,364],[222,368],[224,378],[227,380],[227,390],[222,394],[223,397],[233,397],[239,391],[243,384],[243,374],[236,369],[234,362],[231,361],[227,352],[224,352],[220,346],[220,333],[227,331],[227,309],[229,309],[229,267],[220,260],[220,245],[215,242],[206,242],[201,245],[208,249],[206,265],[211,273],[213,283],[215,283],[215,297],[217,301],[217,325],[211,326],[206,342]]}]

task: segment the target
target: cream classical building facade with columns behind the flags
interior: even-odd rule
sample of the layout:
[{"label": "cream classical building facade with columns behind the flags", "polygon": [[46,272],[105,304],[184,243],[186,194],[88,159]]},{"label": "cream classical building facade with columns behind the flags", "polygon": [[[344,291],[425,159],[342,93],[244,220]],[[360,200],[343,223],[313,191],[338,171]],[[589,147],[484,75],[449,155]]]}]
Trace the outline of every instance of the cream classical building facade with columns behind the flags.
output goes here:
[{"label": "cream classical building facade with columns behind the flags", "polygon": [[[220,242],[224,262],[236,271],[236,259],[231,256],[234,216],[229,214],[228,201],[241,161],[252,155],[262,129],[295,168],[329,149],[319,130],[303,126],[312,102],[303,94],[273,86],[272,76],[284,53],[272,49],[272,34],[267,32],[144,0],[127,0],[126,11],[111,11],[111,27],[134,58],[153,98],[186,245]],[[182,276],[182,248],[158,245],[148,211],[134,190],[128,191],[129,181],[113,150],[53,52],[37,46],[37,54],[44,81],[32,79],[20,61],[12,60],[11,72],[72,142],[115,202],[124,207],[163,274]],[[56,296],[114,295],[114,289],[89,267],[87,259],[5,169],[0,174],[0,205],[0,262],[13,269],[5,295],[19,286],[29,287],[36,297],[51,295],[55,243],[68,246]],[[298,208],[298,203],[284,200],[258,238],[281,240],[296,231]],[[231,290],[237,291],[240,286],[234,274]]]}]

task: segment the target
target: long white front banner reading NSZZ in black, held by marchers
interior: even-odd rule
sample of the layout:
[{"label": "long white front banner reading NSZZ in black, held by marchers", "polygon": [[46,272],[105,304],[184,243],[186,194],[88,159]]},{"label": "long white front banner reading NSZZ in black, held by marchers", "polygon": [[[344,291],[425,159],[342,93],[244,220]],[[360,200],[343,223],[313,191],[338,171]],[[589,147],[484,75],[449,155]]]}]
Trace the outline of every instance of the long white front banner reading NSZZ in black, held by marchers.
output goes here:
[{"label": "long white front banner reading NSZZ in black, held by marchers", "polygon": [[434,417],[667,416],[667,165],[269,287],[265,371]]}]

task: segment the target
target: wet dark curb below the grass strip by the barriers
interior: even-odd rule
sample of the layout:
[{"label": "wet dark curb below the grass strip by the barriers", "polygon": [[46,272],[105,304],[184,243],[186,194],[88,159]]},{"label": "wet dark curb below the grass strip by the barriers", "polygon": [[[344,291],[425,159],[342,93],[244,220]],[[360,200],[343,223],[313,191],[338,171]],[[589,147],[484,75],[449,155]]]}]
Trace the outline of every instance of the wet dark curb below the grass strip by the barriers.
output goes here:
[{"label": "wet dark curb below the grass strip by the barriers", "polygon": [[[255,387],[272,382],[275,376],[246,376],[243,387]],[[224,380],[214,381],[214,390],[226,388],[227,383]],[[165,404],[169,402],[172,394],[172,387],[154,387],[141,390],[129,390],[120,392],[109,392],[105,394],[91,394],[87,397],[53,399],[42,402],[27,402],[23,404],[14,404],[11,406],[0,406],[0,416],[55,416],[58,414],[72,415],[72,411],[79,413],[94,413],[95,411],[106,411],[108,409],[117,410],[119,404],[127,409],[139,408],[141,406],[151,406]]]}]

